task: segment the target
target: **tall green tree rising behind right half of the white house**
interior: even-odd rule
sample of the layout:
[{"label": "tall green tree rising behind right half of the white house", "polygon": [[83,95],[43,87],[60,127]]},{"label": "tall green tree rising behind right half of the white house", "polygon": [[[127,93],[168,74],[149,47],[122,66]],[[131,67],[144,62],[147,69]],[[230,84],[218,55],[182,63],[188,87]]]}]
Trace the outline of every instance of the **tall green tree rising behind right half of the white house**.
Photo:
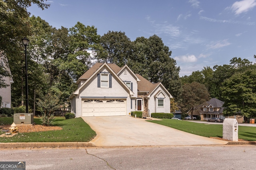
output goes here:
[{"label": "tall green tree rising behind right half of the white house", "polygon": [[133,43],[134,52],[127,65],[150,82],[161,82],[178,101],[181,94],[180,67],[170,57],[172,51],[169,47],[157,35],[148,39],[138,37]]}]

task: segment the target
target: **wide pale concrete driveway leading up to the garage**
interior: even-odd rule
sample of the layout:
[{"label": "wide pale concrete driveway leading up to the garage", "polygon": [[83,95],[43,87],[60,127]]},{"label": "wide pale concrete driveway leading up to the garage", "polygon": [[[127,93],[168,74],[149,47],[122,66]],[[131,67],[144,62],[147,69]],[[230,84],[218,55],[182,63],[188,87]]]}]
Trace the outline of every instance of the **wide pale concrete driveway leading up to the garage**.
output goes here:
[{"label": "wide pale concrete driveway leading up to the garage", "polygon": [[201,137],[130,116],[82,117],[97,133],[90,141],[98,147],[225,145],[228,142]]}]

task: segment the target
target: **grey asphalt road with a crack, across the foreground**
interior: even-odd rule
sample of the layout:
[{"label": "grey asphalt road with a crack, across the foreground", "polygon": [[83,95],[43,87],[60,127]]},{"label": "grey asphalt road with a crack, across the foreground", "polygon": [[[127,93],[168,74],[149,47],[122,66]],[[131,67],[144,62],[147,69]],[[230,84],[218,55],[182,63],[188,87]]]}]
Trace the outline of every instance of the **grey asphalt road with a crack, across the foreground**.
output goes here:
[{"label": "grey asphalt road with a crack, across the foreground", "polygon": [[256,145],[0,149],[26,170],[252,170]]}]

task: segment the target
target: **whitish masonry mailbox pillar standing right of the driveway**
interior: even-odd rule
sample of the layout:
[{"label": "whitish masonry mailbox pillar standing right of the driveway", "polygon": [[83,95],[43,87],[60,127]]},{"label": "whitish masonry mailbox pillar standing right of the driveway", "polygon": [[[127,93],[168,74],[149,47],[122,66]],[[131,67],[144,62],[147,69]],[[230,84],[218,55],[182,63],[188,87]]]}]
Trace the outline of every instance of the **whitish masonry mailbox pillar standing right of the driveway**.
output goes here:
[{"label": "whitish masonry mailbox pillar standing right of the driveway", "polygon": [[222,138],[227,139],[228,141],[238,141],[238,123],[236,119],[224,119]]}]

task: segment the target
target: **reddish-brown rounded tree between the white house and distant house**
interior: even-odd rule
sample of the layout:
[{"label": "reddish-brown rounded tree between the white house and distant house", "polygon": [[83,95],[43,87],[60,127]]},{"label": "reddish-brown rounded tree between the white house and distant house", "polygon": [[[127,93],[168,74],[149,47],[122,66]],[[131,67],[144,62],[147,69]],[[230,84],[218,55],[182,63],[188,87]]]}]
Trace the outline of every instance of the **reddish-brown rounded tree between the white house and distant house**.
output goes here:
[{"label": "reddish-brown rounded tree between the white house and distant house", "polygon": [[182,113],[190,111],[193,116],[196,107],[209,100],[210,94],[204,84],[198,82],[184,84],[182,89],[182,102],[180,104]]}]

